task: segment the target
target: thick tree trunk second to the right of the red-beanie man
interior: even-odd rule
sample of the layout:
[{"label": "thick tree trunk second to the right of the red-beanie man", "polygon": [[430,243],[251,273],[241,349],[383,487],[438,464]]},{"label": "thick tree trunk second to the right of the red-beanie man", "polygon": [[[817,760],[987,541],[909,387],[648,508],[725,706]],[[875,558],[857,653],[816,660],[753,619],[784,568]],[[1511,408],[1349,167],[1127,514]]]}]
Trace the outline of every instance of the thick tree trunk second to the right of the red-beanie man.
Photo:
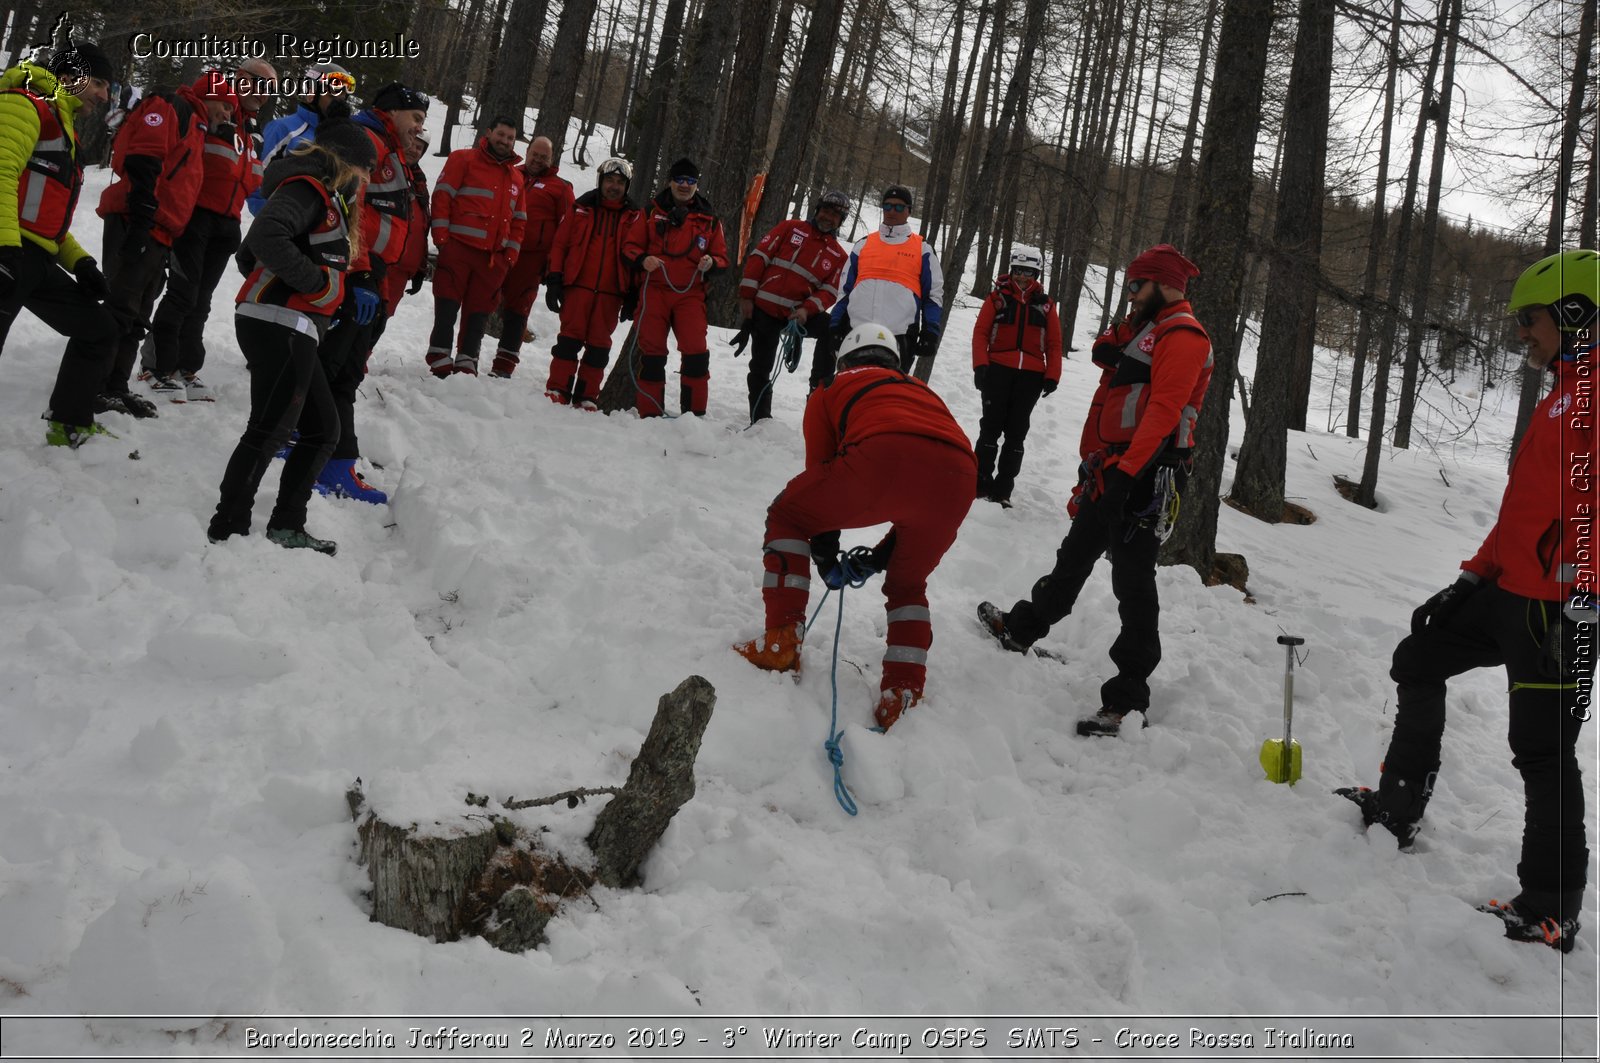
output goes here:
[{"label": "thick tree trunk second to the right of the red-beanie man", "polygon": [[[1301,0],[1294,67],[1283,104],[1283,170],[1278,174],[1272,266],[1256,352],[1256,402],[1234,471],[1232,499],[1246,512],[1278,523],[1293,373],[1304,351],[1309,365],[1317,322],[1317,274],[1322,255],[1323,174],[1328,162],[1328,99],[1333,83],[1334,0]],[[1301,421],[1304,431],[1304,421]]]}]

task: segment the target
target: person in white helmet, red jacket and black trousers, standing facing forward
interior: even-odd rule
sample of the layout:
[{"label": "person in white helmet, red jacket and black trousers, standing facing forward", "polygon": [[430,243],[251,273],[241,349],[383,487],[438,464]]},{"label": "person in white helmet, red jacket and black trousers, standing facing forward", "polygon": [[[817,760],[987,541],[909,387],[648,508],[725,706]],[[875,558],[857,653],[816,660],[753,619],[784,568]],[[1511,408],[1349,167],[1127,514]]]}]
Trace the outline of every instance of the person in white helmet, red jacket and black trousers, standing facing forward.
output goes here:
[{"label": "person in white helmet, red jacket and black trousers, standing facing forward", "polygon": [[1040,285],[1043,267],[1038,251],[1013,250],[1011,272],[995,279],[973,327],[973,384],[984,400],[978,421],[978,498],[1005,507],[1011,506],[1011,488],[1022,469],[1022,442],[1034,405],[1061,383],[1061,315]]}]

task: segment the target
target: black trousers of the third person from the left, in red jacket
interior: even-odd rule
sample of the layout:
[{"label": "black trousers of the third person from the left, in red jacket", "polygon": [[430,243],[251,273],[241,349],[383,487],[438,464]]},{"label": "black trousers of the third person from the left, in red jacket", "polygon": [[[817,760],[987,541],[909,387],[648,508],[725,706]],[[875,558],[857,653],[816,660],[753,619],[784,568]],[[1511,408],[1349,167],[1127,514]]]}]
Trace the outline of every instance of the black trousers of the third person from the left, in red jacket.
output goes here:
[{"label": "black trousers of the third person from the left, in red jacket", "polygon": [[157,376],[198,373],[205,367],[205,323],[211,293],[238,250],[238,219],[195,208],[184,234],[173,243],[168,285],[150,319]]}]

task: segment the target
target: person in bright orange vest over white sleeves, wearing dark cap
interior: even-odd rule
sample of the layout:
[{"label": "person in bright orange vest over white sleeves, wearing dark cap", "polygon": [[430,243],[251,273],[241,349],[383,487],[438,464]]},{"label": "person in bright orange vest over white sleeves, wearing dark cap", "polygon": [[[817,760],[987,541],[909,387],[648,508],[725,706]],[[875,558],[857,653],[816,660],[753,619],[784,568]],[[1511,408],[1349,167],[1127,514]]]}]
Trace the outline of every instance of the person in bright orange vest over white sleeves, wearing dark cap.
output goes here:
[{"label": "person in bright orange vest over white sleeves, wearing dark cap", "polygon": [[920,234],[910,231],[910,189],[891,184],[880,203],[883,223],[856,242],[845,266],[843,295],[834,304],[832,339],[819,343],[811,365],[811,386],[830,379],[832,346],[850,331],[850,322],[877,322],[894,331],[901,371],[909,373],[920,355],[931,359],[944,330],[944,271]]}]

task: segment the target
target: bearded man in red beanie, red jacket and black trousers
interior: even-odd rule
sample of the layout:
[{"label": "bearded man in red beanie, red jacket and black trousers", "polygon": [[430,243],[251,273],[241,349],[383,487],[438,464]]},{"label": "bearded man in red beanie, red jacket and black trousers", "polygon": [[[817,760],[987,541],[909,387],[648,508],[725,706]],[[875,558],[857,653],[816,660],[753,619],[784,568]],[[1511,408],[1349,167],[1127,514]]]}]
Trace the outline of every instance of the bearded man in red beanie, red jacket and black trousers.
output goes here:
[{"label": "bearded man in red beanie, red jacket and black trousers", "polygon": [[1211,339],[1184,296],[1200,269],[1170,243],[1128,266],[1128,320],[1101,336],[1101,383],[1090,403],[1072,527],[1056,567],[1027,599],[979,620],[1006,650],[1026,653],[1078,600],[1094,562],[1110,554],[1110,586],[1122,632],[1110,647],[1117,674],[1101,685],[1101,711],[1080,735],[1115,735],[1123,717],[1150,706],[1150,674],[1162,661],[1155,556],[1171,530],[1192,466],[1195,419],[1211,381]]}]

